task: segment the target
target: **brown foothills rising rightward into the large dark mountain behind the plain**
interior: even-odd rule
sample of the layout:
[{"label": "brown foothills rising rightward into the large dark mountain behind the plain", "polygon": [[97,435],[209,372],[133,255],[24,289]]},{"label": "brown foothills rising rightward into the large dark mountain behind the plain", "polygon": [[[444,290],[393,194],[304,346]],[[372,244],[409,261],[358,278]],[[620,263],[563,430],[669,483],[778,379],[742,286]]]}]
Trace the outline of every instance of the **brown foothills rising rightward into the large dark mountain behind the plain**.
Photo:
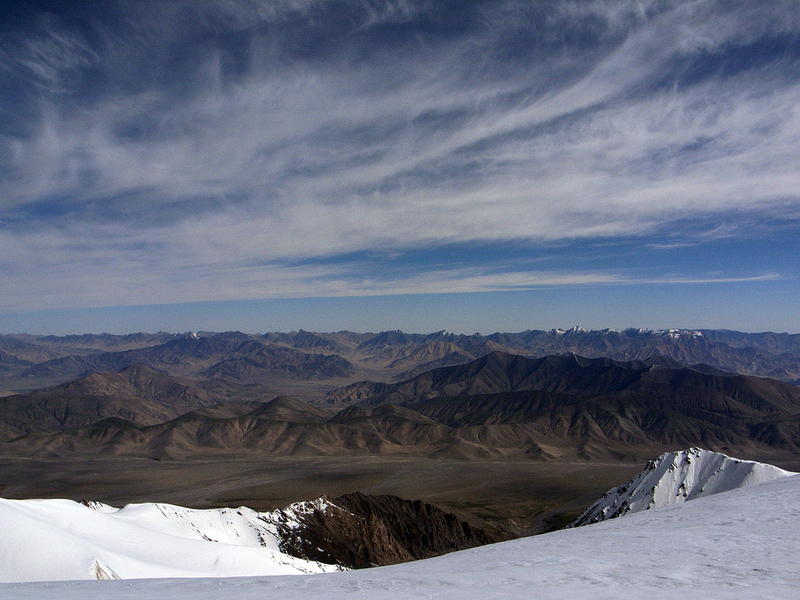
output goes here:
[{"label": "brown foothills rising rightward into the large dark mountain behind the plain", "polygon": [[774,380],[495,353],[381,389],[338,413],[277,398],[246,414],[193,411],[149,426],[107,419],[29,435],[17,447],[154,458],[244,451],[613,459],[676,445],[800,451],[800,389]]}]

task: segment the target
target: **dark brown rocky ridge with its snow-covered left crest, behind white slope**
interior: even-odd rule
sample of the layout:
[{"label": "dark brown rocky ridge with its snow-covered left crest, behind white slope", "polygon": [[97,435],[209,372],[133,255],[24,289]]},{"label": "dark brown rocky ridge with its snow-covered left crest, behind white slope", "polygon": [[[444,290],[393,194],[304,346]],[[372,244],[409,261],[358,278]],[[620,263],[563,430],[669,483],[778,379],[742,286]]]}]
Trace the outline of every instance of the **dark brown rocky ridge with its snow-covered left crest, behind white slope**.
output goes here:
[{"label": "dark brown rocky ridge with its snow-covered left crest, behind white slope", "polygon": [[[265,548],[320,570],[390,565],[500,541],[432,504],[360,492],[269,512],[245,506],[198,510],[163,503],[124,509],[89,500],[81,504],[96,512],[144,517],[181,537]],[[98,579],[114,576],[106,565],[92,573]]]}]

